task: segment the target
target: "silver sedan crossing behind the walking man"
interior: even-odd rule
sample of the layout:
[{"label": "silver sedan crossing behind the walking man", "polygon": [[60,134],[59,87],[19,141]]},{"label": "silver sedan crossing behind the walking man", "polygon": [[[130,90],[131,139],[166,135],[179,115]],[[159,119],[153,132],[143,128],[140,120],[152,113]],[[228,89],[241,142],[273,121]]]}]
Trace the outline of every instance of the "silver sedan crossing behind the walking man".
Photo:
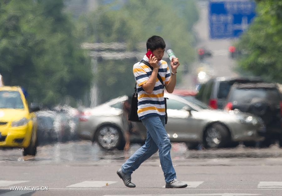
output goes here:
[{"label": "silver sedan crossing behind the walking man", "polygon": [[[192,98],[182,98],[165,93],[168,123],[165,126],[172,142],[185,142],[193,148],[202,143],[206,148],[228,147],[239,141],[260,141],[265,132],[263,121],[252,114],[239,111],[212,110]],[[127,96],[112,99],[94,109],[86,109],[81,115],[79,135],[97,141],[106,149],[124,146],[124,122],[122,103]],[[133,123],[135,132],[131,142],[144,142],[146,129],[142,123]]]}]

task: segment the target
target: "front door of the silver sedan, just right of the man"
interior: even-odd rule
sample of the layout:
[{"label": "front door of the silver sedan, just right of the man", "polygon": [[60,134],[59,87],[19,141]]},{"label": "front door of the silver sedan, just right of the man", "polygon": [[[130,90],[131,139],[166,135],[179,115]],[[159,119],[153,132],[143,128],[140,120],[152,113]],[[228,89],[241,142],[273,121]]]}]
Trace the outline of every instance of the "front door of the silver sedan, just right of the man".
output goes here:
[{"label": "front door of the silver sedan, just right of the man", "polygon": [[188,111],[183,108],[187,106],[179,100],[170,98],[167,100],[167,114],[168,122],[165,125],[165,129],[170,137],[171,141],[199,141],[200,133],[198,126],[198,119],[195,119],[193,113],[197,111]]}]

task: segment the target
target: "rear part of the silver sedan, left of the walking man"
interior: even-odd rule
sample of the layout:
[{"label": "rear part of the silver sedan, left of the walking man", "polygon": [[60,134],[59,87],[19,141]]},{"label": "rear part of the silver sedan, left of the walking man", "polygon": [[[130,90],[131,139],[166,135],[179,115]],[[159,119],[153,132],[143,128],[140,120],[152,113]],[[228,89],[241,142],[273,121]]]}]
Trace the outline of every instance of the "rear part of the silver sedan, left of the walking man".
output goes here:
[{"label": "rear part of the silver sedan, left of the walking man", "polygon": [[[78,135],[82,139],[96,141],[107,150],[114,148],[122,150],[125,145],[125,129],[129,123],[123,114],[123,102],[127,99],[128,96],[122,96],[95,108],[83,109],[79,116]],[[130,135],[131,142],[144,140],[146,140],[146,134]]]}]

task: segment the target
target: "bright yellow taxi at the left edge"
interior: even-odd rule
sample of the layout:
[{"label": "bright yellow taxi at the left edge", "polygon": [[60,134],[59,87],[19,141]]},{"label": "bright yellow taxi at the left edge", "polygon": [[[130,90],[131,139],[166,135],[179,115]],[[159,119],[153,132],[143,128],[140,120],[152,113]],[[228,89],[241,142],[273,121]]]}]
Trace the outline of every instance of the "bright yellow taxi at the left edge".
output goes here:
[{"label": "bright yellow taxi at the left edge", "polygon": [[37,148],[38,106],[28,106],[21,87],[0,87],[0,147],[24,148],[23,154],[35,155]]}]

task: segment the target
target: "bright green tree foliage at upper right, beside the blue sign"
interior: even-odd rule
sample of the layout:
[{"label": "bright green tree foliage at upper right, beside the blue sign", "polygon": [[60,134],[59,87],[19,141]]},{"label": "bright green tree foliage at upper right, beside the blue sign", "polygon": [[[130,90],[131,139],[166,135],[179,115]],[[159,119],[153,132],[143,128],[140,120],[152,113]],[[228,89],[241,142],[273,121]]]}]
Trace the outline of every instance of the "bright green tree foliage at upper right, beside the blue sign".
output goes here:
[{"label": "bright green tree foliage at upper right, beside the blue sign", "polygon": [[243,70],[282,82],[282,0],[257,1],[257,17],[237,47],[244,53]]}]

